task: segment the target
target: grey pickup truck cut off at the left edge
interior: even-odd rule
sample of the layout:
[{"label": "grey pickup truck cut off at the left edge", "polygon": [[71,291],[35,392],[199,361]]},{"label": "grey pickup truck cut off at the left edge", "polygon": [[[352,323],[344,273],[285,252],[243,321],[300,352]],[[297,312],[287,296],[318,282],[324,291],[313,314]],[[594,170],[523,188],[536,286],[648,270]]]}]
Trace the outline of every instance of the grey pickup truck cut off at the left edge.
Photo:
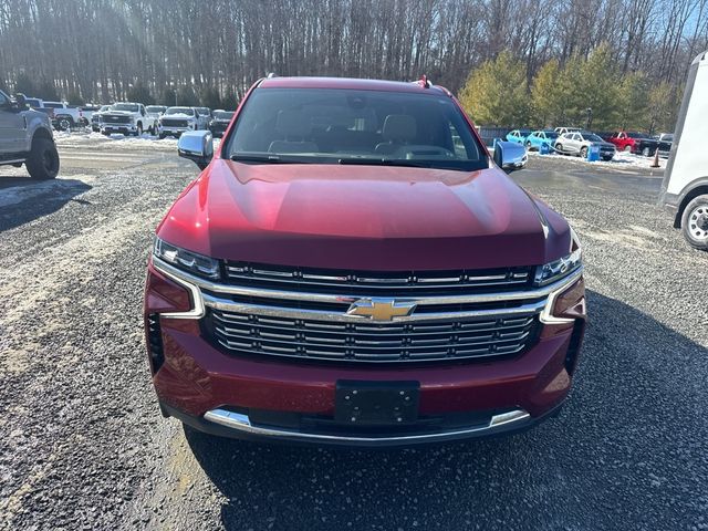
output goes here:
[{"label": "grey pickup truck cut off at the left edge", "polygon": [[0,91],[0,166],[25,165],[34,179],[53,179],[59,154],[45,113],[29,108],[24,96],[11,100]]}]

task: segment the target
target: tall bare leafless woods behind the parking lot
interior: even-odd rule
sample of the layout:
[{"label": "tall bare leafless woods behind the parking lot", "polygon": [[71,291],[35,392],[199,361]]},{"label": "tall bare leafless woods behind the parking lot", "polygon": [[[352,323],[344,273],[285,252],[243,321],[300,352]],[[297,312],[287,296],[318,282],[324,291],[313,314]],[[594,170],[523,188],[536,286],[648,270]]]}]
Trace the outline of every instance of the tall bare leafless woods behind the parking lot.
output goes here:
[{"label": "tall bare leafless woods behind the parking lot", "polygon": [[[553,81],[553,94],[577,82],[575,67],[596,66],[593,58],[602,55],[613,81],[660,86],[676,98],[688,64],[706,48],[708,0],[0,2],[0,86],[76,102],[232,108],[269,72],[392,80],[425,73],[458,92],[472,81],[470,71],[511,61],[518,83],[500,90],[525,92],[532,112],[545,114],[533,116],[545,121],[563,115],[538,106],[542,80]],[[563,91],[555,100],[602,105]],[[574,110],[565,112],[574,119]],[[603,123],[615,114],[595,116]]]}]

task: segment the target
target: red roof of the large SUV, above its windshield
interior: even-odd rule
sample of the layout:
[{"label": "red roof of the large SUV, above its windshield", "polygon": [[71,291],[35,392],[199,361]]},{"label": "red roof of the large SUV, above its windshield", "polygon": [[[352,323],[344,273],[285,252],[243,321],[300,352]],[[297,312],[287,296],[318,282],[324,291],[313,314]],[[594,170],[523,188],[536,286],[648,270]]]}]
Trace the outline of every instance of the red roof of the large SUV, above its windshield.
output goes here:
[{"label": "red roof of the large SUV, above its windshield", "polygon": [[425,87],[423,83],[351,77],[268,77],[258,86],[259,88],[350,88],[449,95],[449,92],[441,86],[429,85]]}]

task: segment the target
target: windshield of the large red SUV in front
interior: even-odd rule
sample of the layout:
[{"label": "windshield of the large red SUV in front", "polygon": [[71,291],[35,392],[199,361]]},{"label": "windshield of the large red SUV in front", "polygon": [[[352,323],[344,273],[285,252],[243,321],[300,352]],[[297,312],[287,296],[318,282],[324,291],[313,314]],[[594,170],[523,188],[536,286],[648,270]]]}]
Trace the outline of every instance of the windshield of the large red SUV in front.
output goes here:
[{"label": "windshield of the large red SUV in front", "polygon": [[462,113],[442,95],[261,88],[248,98],[226,156],[250,163],[488,166]]}]

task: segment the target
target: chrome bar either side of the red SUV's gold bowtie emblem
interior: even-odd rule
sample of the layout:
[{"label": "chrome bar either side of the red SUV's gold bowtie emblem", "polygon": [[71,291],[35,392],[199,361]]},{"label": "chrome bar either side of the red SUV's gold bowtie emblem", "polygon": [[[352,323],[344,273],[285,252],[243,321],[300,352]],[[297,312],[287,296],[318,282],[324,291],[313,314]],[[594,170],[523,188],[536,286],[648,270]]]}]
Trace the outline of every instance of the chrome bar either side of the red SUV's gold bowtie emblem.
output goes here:
[{"label": "chrome bar either side of the red SUV's gold bowtie emblem", "polygon": [[[153,264],[162,272],[170,273],[175,277],[179,277],[186,282],[195,284],[202,290],[212,291],[215,293],[223,293],[229,295],[241,296],[254,296],[262,299],[283,299],[289,301],[305,301],[305,302],[325,302],[325,303],[352,303],[360,299],[365,299],[365,295],[352,295],[352,294],[332,294],[332,293],[313,293],[306,291],[283,291],[283,290],[270,290],[262,288],[248,288],[240,285],[222,284],[214,282],[207,279],[199,278],[181,269],[153,257]],[[556,291],[560,287],[565,287],[569,282],[577,280],[583,272],[582,266],[568,277],[562,278],[553,283],[546,284],[541,288],[521,291],[504,291],[499,293],[477,293],[470,295],[430,295],[430,296],[396,296],[397,302],[409,302],[416,305],[437,305],[437,304],[466,304],[466,303],[481,303],[481,302],[506,302],[506,301],[519,301],[529,299],[541,299],[550,295]]]}]

